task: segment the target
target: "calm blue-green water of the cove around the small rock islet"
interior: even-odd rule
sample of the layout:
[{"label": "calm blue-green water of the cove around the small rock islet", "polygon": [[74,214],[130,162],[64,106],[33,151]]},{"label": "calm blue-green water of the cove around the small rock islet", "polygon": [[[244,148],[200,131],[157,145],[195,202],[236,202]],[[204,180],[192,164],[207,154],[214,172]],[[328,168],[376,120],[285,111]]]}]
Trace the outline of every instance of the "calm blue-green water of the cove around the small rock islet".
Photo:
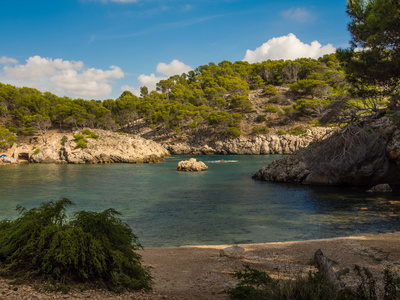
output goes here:
[{"label": "calm blue-green water of the cove around the small rock islet", "polygon": [[[196,156],[190,156],[196,157]],[[263,243],[400,230],[398,193],[366,188],[259,182],[251,176],[281,156],[199,156],[209,169],[160,164],[21,165],[0,168],[0,219],[17,205],[69,198],[68,212],[112,207],[145,247]],[[226,163],[218,163],[224,159]]]}]

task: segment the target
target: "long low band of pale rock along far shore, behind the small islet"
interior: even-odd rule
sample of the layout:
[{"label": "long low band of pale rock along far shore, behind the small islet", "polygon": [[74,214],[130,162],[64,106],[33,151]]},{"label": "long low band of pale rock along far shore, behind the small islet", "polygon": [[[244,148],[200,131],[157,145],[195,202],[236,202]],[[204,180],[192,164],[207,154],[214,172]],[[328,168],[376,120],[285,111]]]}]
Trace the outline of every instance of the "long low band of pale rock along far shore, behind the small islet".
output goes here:
[{"label": "long low band of pale rock along far shore, behind the small islet", "polygon": [[322,139],[333,132],[332,128],[316,127],[307,130],[306,136],[259,135],[246,139],[239,137],[231,140],[209,142],[202,145],[187,143],[163,143],[171,154],[291,154],[311,142]]}]

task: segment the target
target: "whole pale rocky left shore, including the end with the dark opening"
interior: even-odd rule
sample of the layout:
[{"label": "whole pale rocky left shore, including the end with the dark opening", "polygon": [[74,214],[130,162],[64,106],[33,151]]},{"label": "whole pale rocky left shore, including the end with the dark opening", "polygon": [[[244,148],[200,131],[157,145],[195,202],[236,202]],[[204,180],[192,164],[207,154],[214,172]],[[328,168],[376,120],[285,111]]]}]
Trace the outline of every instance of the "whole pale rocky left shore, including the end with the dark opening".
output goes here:
[{"label": "whole pale rocky left shore, including the end with the dark opening", "polygon": [[160,144],[144,138],[105,130],[93,132],[98,138],[85,137],[85,148],[78,146],[73,133],[49,134],[47,143],[22,141],[9,151],[7,160],[58,164],[157,163],[169,156]]}]

